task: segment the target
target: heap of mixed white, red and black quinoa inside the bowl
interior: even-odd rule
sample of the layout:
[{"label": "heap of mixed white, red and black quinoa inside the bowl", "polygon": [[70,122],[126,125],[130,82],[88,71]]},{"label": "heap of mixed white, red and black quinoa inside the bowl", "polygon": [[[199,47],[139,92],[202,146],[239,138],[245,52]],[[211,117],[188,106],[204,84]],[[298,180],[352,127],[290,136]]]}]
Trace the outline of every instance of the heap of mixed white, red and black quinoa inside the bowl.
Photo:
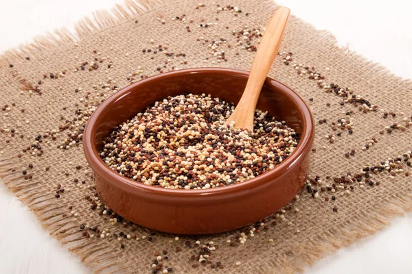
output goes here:
[{"label": "heap of mixed white, red and black quinoa inside the bowl", "polygon": [[299,136],[256,110],[254,131],[224,125],[234,105],[210,95],[157,101],[115,127],[100,157],[117,173],[151,186],[206,189],[243,182],[284,161]]}]

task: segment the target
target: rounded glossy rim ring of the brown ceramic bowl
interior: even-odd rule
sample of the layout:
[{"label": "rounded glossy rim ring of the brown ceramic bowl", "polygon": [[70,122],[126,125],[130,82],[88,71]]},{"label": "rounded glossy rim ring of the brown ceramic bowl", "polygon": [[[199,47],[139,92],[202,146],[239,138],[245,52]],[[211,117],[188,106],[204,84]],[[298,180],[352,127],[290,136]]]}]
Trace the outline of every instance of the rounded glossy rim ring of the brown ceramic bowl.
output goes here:
[{"label": "rounded glossy rim ring of the brown ceramic bowl", "polygon": [[[281,164],[275,166],[274,169],[271,171],[267,171],[262,175],[258,175],[253,179],[248,179],[244,182],[238,184],[231,184],[230,186],[223,186],[217,188],[208,188],[208,189],[196,189],[196,190],[183,190],[183,189],[170,189],[170,188],[162,188],[160,186],[150,186],[146,185],[142,182],[137,182],[133,179],[126,178],[122,175],[119,175],[112,169],[110,169],[105,162],[100,158],[97,148],[95,147],[95,134],[98,123],[100,122],[100,115],[106,108],[108,108],[111,103],[117,101],[127,95],[129,92],[135,90],[139,85],[145,84],[147,82],[157,81],[158,79],[162,78],[170,78],[170,77],[178,77],[181,75],[187,74],[194,74],[194,73],[201,73],[201,74],[210,74],[210,73],[218,73],[223,75],[240,75],[243,77],[249,77],[249,71],[243,71],[238,69],[228,69],[228,68],[214,68],[214,67],[205,67],[205,68],[192,68],[192,69],[182,69],[178,71],[171,71],[168,73],[161,73],[158,75],[153,75],[146,79],[142,79],[139,82],[134,84],[130,84],[122,88],[121,90],[117,91],[115,94],[108,97],[99,107],[93,112],[87,125],[84,129],[83,134],[83,150],[84,154],[87,158],[87,162],[89,162],[89,166],[91,166],[92,171],[106,179],[107,182],[110,184],[117,186],[118,188],[122,188],[128,192],[132,192],[133,194],[138,194],[141,192],[142,194],[148,195],[161,195],[161,196],[169,196],[169,197],[176,197],[176,198],[184,198],[184,197],[216,197],[221,195],[227,195],[233,192],[244,192],[245,194],[249,193],[250,190],[257,188],[259,186],[264,185],[267,182],[270,182],[273,179],[276,179],[283,173],[286,173],[293,166],[300,164],[301,161],[304,160],[303,154],[307,154],[312,147],[312,142],[314,139],[314,121],[312,118],[312,114],[308,105],[306,105],[305,101],[297,95],[296,92],[285,86],[284,84],[277,82],[275,79],[271,77],[267,77],[265,81],[265,85],[273,86],[279,90],[282,90],[292,101],[295,102],[297,105],[297,110],[299,114],[302,116],[302,124],[303,130],[301,133],[301,140],[297,145],[296,149],[291,153],[286,160],[284,160]],[[202,198],[203,199],[203,198]]]}]

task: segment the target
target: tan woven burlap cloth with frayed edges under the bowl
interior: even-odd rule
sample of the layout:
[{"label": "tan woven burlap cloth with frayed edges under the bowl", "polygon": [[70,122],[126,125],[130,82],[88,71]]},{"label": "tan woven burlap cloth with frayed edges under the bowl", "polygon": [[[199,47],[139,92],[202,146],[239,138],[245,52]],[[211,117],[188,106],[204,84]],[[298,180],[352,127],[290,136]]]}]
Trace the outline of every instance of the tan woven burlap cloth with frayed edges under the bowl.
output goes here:
[{"label": "tan woven burlap cloth with frayed edges under the bowl", "polygon": [[[396,173],[393,179],[387,172],[371,175],[374,182],[380,183],[378,186],[365,184],[362,188],[355,180],[348,184],[347,189],[339,189],[336,193],[320,192],[317,199],[304,190],[300,199],[290,206],[291,210],[286,208],[284,214],[279,212],[277,216],[270,216],[264,221],[264,225],[268,225],[267,229],[260,227],[260,232],[255,232],[254,237],[249,236],[251,228],[246,229],[248,238],[244,245],[236,242],[236,236],[244,229],[197,238],[181,236],[176,241],[175,235],[151,232],[133,224],[123,227],[123,221],[111,225],[109,216],[98,214],[101,210],[91,209],[91,204],[84,196],[94,198],[95,190],[81,142],[68,150],[57,148],[67,138],[70,129],[60,132],[57,140],[44,138],[40,144],[43,150],[41,156],[22,152],[22,149],[32,145],[38,134],[58,130],[60,125],[65,125],[65,120],[72,121],[77,116],[77,109],[86,110],[85,102],[89,101],[88,104],[93,105],[100,101],[104,98],[100,97],[101,92],[102,95],[111,95],[113,90],[102,88],[108,83],[109,77],[110,87],[122,87],[129,84],[132,77],[137,81],[140,75],[159,73],[158,67],[163,71],[170,71],[173,66],[174,69],[198,66],[249,69],[254,54],[241,49],[242,46],[236,46],[237,35],[233,36],[232,31],[239,32],[245,26],[251,29],[264,26],[275,4],[259,0],[216,1],[221,6],[237,6],[242,10],[235,13],[218,12],[216,3],[204,3],[204,7],[196,8],[198,1],[161,3],[149,0],[139,4],[129,1],[123,7],[115,8],[114,15],[100,12],[95,14],[93,20],[80,22],[77,27],[79,38],[60,30],[57,36],[38,38],[31,45],[1,56],[0,107],[7,104],[10,110],[1,112],[0,177],[38,216],[45,229],[60,239],[70,251],[78,254],[93,271],[151,273],[155,252],[167,250],[169,260],[164,265],[172,267],[175,273],[293,273],[339,247],[373,234],[388,225],[393,216],[411,210],[411,179],[404,174],[410,169],[404,164],[404,170]],[[181,17],[183,14],[187,23],[172,21],[172,17]],[[165,23],[162,24],[161,20]],[[208,27],[199,27],[205,23]],[[190,32],[185,28],[186,25],[190,26]],[[196,40],[201,39],[201,36],[203,40]],[[226,44],[218,48],[225,51],[227,62],[217,62],[217,57],[210,53],[210,41],[220,38],[227,40]],[[154,44],[150,43],[150,39],[153,39]],[[242,39],[240,36],[241,42]],[[169,57],[164,52],[142,53],[142,49],[159,44],[168,47],[165,51],[173,52],[174,55]],[[258,45],[258,39],[253,39],[252,45]],[[407,123],[402,120],[404,117],[411,121],[412,84],[409,80],[394,77],[377,64],[337,47],[331,34],[316,30],[293,16],[288,23],[281,51],[293,53],[293,61],[287,66],[282,62],[283,58],[278,57],[270,76],[298,92],[310,105],[315,121],[327,120],[323,124],[317,123],[314,142],[317,150],[311,157],[310,174],[319,175],[322,181],[319,185],[331,185],[333,177],[346,175],[348,171],[359,173],[365,164],[378,164],[411,149],[412,130],[409,127],[404,131],[393,129],[391,134],[385,129],[385,126],[393,123],[404,125]],[[185,56],[176,57],[177,53],[185,53]],[[89,65],[84,71],[80,69],[79,62],[90,63],[95,57],[98,60],[105,57],[106,60],[97,62],[99,68],[93,71],[88,70]],[[168,59],[167,68],[163,68]],[[187,64],[181,64],[181,61],[187,61]],[[108,68],[109,62],[113,62],[111,68]],[[354,94],[362,95],[372,104],[378,105],[378,111],[363,113],[350,103],[341,105],[343,97],[334,92],[324,92],[314,80],[308,79],[308,75],[299,77],[293,67],[295,62],[314,66],[325,76],[326,84],[352,88]],[[9,64],[13,64],[13,67]],[[139,66],[143,72],[133,76],[139,71]],[[77,72],[76,67],[79,68]],[[63,70],[66,70],[65,76],[59,76],[58,73]],[[55,73],[58,79],[50,79],[49,73]],[[47,78],[43,79],[43,74],[47,74]],[[28,90],[35,89],[39,80],[43,82],[40,85],[42,94],[33,91],[29,95]],[[81,90],[75,92],[76,88]],[[87,92],[90,92],[89,99],[85,98]],[[94,103],[90,102],[92,97],[95,98]],[[330,103],[330,107],[326,106],[327,103]],[[337,119],[345,118],[345,112],[350,110],[354,111],[351,115],[353,134],[348,134],[345,129],[340,137],[336,136],[341,130],[332,131],[332,122],[337,123]],[[393,117],[389,114],[387,119],[383,119],[384,110],[394,111],[397,115]],[[401,112],[404,112],[404,116]],[[11,132],[5,129],[18,132],[11,136]],[[385,130],[385,133],[379,134],[381,130]],[[328,134],[335,134],[333,143],[325,138]],[[376,137],[378,142],[365,151],[361,150],[365,139],[371,137]],[[345,157],[345,153],[351,149],[356,150],[355,155]],[[18,158],[19,153],[22,154],[21,158]],[[33,164],[33,169],[28,168],[29,164]],[[82,168],[78,170],[76,165]],[[45,171],[48,166],[49,170]],[[32,175],[32,178],[25,179],[23,170],[27,170],[25,176]],[[330,179],[326,179],[327,176]],[[78,178],[79,183],[74,183],[74,178]],[[82,180],[86,180],[86,184],[80,184]],[[65,188],[58,199],[54,197],[57,184]],[[336,201],[325,201],[325,197],[331,198],[332,195],[336,196]],[[338,212],[333,212],[334,207],[338,208]],[[98,226],[100,231],[110,229],[110,234],[124,232],[140,240],[125,238],[122,240],[122,249],[121,242],[113,236],[82,236],[84,231],[96,233],[80,229],[80,225]],[[146,236],[146,239],[142,236]],[[148,240],[149,237],[152,241]],[[190,247],[185,246],[185,240],[190,241]],[[218,248],[208,260],[213,264],[221,262],[224,268],[211,269],[210,264],[202,266],[196,260],[191,260],[191,256],[196,256],[201,248],[194,247],[195,240],[200,240],[201,245],[212,240]],[[234,242],[234,247],[227,240]],[[176,247],[181,247],[181,251],[176,251]],[[241,264],[236,266],[238,261]],[[192,264],[198,267],[193,269]]]}]

